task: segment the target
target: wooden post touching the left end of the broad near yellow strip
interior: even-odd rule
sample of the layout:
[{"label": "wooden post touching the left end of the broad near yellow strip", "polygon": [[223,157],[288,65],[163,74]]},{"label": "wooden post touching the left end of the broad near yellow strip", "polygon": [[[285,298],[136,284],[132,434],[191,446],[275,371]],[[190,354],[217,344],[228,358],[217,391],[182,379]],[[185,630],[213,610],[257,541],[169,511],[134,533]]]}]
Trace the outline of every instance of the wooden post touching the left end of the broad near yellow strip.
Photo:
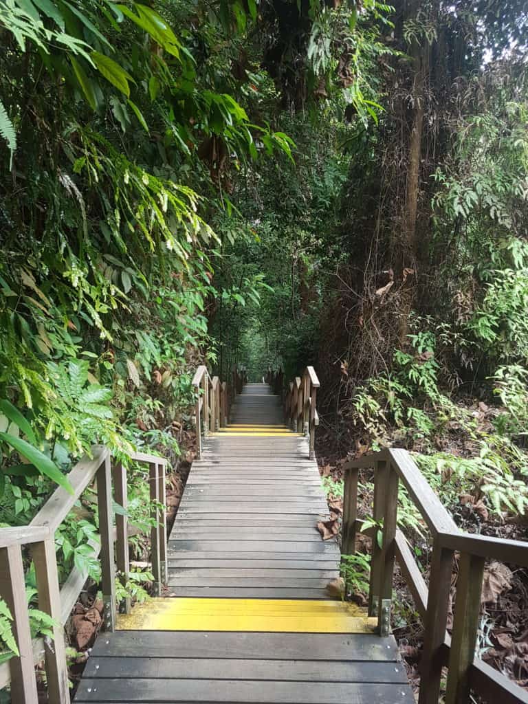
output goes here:
[{"label": "wooden post touching the left end of the broad near yellow strip", "polygon": [[97,470],[97,505],[101,536],[101,584],[103,588],[103,620],[107,631],[115,629],[115,565],[112,527],[112,479],[110,455]]}]

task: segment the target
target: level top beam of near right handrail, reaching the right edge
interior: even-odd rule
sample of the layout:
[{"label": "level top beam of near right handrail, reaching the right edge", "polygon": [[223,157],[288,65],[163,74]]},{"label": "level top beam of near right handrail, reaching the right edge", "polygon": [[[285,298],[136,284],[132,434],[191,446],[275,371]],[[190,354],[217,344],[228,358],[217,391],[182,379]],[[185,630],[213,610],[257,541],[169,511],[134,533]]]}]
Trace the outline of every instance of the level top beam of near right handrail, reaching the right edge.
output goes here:
[{"label": "level top beam of near right handrail, reaching the right edge", "polygon": [[510,562],[519,567],[528,567],[528,543],[518,540],[491,538],[474,533],[442,533],[440,543],[443,548],[477,555],[480,558]]}]

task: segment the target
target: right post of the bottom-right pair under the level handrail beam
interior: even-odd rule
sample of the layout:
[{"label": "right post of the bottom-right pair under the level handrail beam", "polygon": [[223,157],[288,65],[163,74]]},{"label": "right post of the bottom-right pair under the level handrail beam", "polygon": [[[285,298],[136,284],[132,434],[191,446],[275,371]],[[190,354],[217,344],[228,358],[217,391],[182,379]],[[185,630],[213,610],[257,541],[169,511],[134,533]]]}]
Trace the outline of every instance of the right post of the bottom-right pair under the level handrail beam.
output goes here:
[{"label": "right post of the bottom-right pair under the level handrail beam", "polygon": [[468,672],[473,662],[479,632],[485,561],[477,555],[460,553],[446,704],[466,704],[470,700]]}]

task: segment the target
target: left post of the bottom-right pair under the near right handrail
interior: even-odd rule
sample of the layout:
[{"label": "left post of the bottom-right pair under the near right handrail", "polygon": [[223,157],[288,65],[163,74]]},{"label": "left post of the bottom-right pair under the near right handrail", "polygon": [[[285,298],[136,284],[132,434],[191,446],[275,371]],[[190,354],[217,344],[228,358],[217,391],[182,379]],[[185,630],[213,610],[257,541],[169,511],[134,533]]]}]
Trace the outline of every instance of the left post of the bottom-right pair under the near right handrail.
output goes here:
[{"label": "left post of the bottom-right pair under the near right handrail", "polygon": [[429,570],[429,597],[424,620],[424,645],[420,661],[419,704],[438,704],[444,659],[442,648],[446,638],[453,551],[442,548],[439,537],[433,541]]}]

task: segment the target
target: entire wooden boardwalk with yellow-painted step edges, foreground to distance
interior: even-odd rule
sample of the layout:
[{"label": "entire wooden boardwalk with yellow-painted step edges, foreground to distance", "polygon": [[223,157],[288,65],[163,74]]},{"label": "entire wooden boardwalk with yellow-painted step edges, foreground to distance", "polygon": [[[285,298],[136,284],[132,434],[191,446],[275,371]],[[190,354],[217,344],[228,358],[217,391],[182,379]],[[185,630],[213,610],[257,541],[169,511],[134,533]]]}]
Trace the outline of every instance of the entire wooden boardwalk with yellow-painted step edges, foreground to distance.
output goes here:
[{"label": "entire wooden boardwalk with yellow-painted step edges, foreground to distance", "polygon": [[[413,702],[392,636],[332,601],[339,546],[308,441],[246,384],[194,462],[168,543],[168,591],[99,636],[75,697],[99,703]],[[172,598],[168,598],[172,597]]]}]

